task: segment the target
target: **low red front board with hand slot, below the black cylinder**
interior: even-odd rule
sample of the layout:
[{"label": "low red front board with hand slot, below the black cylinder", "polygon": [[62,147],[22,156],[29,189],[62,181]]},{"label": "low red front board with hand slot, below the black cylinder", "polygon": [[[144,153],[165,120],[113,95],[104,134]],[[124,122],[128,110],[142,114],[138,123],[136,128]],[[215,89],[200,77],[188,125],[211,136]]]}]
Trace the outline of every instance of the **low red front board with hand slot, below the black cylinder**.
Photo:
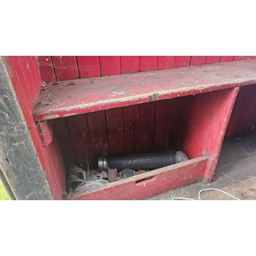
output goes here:
[{"label": "low red front board with hand slot, below the black cylinder", "polygon": [[[208,156],[152,170],[65,197],[66,200],[144,200],[203,180]],[[189,172],[187,171],[189,169]],[[146,179],[147,178],[147,179]]]}]

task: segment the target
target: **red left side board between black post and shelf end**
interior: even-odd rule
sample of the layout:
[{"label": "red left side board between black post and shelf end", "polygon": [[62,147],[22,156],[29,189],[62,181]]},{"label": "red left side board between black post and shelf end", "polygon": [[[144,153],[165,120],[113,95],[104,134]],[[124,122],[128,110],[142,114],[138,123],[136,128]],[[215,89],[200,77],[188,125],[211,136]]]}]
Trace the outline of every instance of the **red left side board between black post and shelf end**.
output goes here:
[{"label": "red left side board between black post and shelf end", "polygon": [[[45,61],[50,61],[51,58]],[[60,200],[65,193],[65,163],[61,157],[58,141],[53,138],[52,143],[43,147],[38,135],[35,121],[32,116],[33,106],[41,89],[41,77],[34,56],[7,56],[7,68],[20,108],[23,111],[28,129],[31,133],[38,158],[45,171],[54,199]],[[48,81],[54,81],[55,75],[51,72],[51,65],[44,65],[48,74]],[[22,170],[21,170],[22,171]]]}]

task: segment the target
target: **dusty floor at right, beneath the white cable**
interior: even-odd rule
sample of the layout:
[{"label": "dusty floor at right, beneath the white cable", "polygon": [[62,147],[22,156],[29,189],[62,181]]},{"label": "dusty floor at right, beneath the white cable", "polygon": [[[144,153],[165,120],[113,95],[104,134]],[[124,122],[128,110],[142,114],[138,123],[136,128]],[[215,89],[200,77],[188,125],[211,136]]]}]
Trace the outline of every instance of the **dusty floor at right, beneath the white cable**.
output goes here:
[{"label": "dusty floor at right, beneath the white cable", "polygon": [[[198,199],[198,192],[204,188],[222,189],[241,200],[256,200],[256,131],[224,139],[212,183],[198,182],[148,200],[170,200],[174,196]],[[201,198],[233,200],[219,191],[203,192]]]}]

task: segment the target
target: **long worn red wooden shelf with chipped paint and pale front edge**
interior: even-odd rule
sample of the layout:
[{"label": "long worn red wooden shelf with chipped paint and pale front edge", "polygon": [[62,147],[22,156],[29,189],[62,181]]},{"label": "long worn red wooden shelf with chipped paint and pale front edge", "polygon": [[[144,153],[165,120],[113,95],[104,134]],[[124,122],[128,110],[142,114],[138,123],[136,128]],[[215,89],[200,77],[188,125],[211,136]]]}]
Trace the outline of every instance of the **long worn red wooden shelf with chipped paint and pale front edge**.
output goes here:
[{"label": "long worn red wooden shelf with chipped paint and pale front edge", "polygon": [[61,81],[41,88],[33,116],[42,121],[255,83],[256,59]]}]

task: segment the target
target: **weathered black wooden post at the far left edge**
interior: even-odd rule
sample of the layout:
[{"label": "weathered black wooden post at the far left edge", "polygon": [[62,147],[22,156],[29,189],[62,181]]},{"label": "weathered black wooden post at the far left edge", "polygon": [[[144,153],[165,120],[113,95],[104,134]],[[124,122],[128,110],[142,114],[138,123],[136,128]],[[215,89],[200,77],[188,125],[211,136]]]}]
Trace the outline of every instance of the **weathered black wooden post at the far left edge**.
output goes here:
[{"label": "weathered black wooden post at the far left edge", "polygon": [[17,200],[52,200],[52,194],[0,57],[0,168]]}]

